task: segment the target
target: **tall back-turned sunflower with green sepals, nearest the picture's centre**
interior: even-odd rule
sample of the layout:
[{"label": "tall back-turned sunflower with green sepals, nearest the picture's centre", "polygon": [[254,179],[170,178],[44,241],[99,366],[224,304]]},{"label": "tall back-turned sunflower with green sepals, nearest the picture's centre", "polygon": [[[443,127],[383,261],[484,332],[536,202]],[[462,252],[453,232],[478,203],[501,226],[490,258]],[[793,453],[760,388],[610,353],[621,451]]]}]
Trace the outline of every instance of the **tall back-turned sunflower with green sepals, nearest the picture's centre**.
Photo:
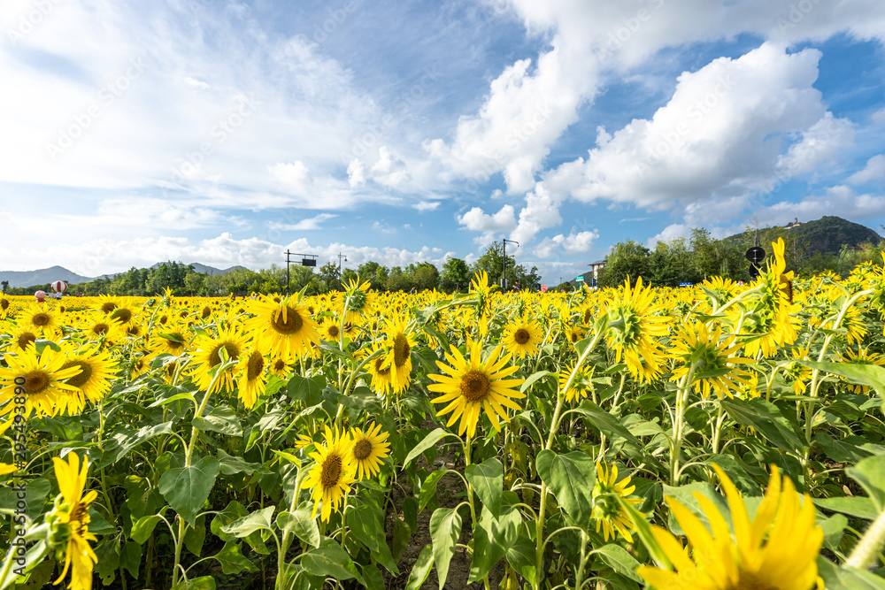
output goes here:
[{"label": "tall back-turned sunflower with green sepals, nearest the picture's centre", "polygon": [[652,339],[666,335],[669,319],[658,315],[663,306],[654,303],[654,298],[650,287],[643,289],[640,277],[635,287],[625,280],[623,290],[605,305],[609,325],[613,324],[605,332],[605,340],[615,352],[615,361],[620,363],[623,358],[635,379],[643,379],[643,364],[657,366],[657,357],[662,356],[658,343]]}]

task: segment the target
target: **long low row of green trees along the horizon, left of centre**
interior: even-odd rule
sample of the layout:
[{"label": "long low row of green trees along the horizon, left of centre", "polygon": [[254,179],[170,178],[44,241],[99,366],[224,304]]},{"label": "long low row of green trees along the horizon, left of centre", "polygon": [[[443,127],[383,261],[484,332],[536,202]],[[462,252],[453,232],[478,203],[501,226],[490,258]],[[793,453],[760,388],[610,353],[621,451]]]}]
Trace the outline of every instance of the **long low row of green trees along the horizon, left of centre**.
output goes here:
[{"label": "long low row of green trees along the horizon, left of centre", "polygon": [[[379,291],[417,291],[439,289],[446,292],[466,290],[474,272],[489,273],[489,283],[500,283],[504,270],[504,258],[495,245],[473,264],[460,258],[446,258],[442,268],[422,262],[406,266],[388,268],[377,262],[366,262],[356,268],[339,268],[338,264],[328,263],[316,272],[308,266],[289,266],[289,293],[306,288],[307,295],[319,295],[337,291],[351,280],[368,280],[373,289]],[[507,257],[507,284],[519,280],[524,288],[537,289],[541,286],[541,276],[537,267],[527,271],[516,264],[512,256]],[[33,295],[43,290],[50,293],[50,284],[30,287],[9,287],[4,285],[9,295]],[[154,268],[130,268],[113,277],[99,277],[95,280],[68,285],[70,295],[162,295],[165,289],[173,295],[250,295],[252,293],[286,293],[286,267],[271,265],[260,271],[235,268],[218,274],[196,272],[190,264],[166,262]]]}]

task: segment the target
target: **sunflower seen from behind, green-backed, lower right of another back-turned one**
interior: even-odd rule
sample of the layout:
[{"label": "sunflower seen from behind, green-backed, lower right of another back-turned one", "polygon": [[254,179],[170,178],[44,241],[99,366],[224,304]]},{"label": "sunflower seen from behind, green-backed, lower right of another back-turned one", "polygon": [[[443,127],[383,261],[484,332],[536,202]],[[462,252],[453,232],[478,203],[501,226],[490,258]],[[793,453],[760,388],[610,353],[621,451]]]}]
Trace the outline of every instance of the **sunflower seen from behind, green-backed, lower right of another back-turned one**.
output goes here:
[{"label": "sunflower seen from behind, green-backed, lower right of another back-turned one", "polygon": [[[735,364],[753,364],[750,358],[735,356],[741,349],[731,336],[723,337],[720,327],[710,331],[702,322],[694,327],[681,326],[671,343],[671,356],[681,365],[673,371],[672,380],[682,379],[692,366],[695,391],[704,399],[714,391],[720,398],[733,397],[732,390],[748,379],[750,374]],[[691,383],[687,384],[691,386]]]}]

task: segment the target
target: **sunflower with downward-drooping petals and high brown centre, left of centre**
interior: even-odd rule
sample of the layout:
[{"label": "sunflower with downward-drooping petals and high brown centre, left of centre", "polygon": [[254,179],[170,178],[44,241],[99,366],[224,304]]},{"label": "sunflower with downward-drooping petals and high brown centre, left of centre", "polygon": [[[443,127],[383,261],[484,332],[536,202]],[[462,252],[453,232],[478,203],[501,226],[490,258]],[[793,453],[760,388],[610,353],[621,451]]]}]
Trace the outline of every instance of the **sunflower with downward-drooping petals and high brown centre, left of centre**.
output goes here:
[{"label": "sunflower with downward-drooping petals and high brown centre, left of centre", "polygon": [[302,356],[309,352],[311,344],[319,344],[317,325],[311,314],[292,300],[281,299],[280,303],[256,301],[250,303],[249,310],[255,314],[243,322],[245,329],[258,341],[262,352],[277,356]]}]

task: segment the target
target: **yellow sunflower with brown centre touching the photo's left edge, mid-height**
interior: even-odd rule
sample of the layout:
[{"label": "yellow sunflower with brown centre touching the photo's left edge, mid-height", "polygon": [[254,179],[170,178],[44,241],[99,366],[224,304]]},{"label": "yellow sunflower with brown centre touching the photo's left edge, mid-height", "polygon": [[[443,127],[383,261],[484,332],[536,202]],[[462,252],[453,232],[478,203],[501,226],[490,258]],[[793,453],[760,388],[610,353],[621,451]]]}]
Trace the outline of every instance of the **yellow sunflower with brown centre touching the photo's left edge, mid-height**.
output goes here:
[{"label": "yellow sunflower with brown centre touching the photo's left edge, mid-height", "polygon": [[[46,347],[41,354],[29,347],[17,355],[4,357],[8,367],[0,367],[0,416],[12,412],[16,405],[13,399],[24,390],[25,418],[32,413],[37,416],[55,416],[67,407],[67,396],[77,395],[77,389],[66,383],[80,374],[79,367],[63,369],[66,357]],[[18,394],[16,393],[18,391]],[[60,399],[60,398],[65,398]]]}]

